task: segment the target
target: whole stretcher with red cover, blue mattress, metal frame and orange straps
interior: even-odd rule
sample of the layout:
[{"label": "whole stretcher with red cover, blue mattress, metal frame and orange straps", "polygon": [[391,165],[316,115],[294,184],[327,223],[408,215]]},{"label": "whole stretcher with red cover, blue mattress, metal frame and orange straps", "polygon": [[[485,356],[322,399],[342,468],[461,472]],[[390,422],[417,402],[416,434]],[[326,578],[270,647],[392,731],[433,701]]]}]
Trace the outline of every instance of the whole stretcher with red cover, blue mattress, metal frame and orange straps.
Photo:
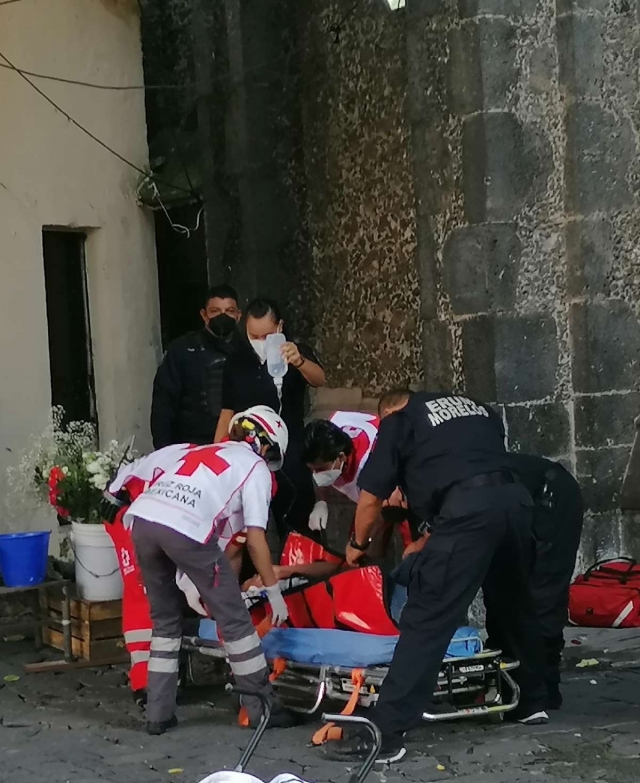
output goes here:
[{"label": "whole stretcher with red cover, blue mattress, metal frame and orange straps", "polygon": [[[281,562],[300,565],[331,558],[339,560],[304,536],[291,534]],[[287,707],[315,715],[326,704],[343,702],[343,714],[352,714],[377,702],[407,601],[401,581],[387,577],[375,565],[316,582],[281,581],[293,627],[271,630],[262,643],[272,665],[274,689]],[[258,628],[264,623],[268,627],[268,604],[260,591],[245,595],[245,602]],[[210,619],[200,622],[197,637],[185,639],[184,646],[209,657],[224,657]],[[425,710],[424,720],[500,716],[515,709],[520,691],[511,672],[518,665],[505,660],[500,650],[484,650],[477,629],[458,629],[442,662],[433,707]],[[316,739],[319,744],[325,735]]]}]

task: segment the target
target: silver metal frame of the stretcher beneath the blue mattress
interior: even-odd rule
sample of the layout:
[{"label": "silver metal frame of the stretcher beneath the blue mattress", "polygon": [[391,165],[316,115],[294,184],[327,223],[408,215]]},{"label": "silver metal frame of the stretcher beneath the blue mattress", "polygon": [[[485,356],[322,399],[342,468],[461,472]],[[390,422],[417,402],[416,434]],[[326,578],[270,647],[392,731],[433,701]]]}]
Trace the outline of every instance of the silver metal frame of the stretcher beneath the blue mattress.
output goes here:
[{"label": "silver metal frame of the stretcher beneath the blue mattress", "polygon": [[[183,649],[208,658],[226,658],[219,642],[197,636],[184,637]],[[520,689],[511,672],[519,665],[518,661],[503,659],[500,650],[484,650],[474,655],[445,658],[433,695],[437,711],[424,712],[423,720],[436,722],[500,716],[514,710],[518,706]],[[356,670],[356,667],[287,660],[286,669],[274,680],[273,685],[287,707],[305,715],[315,715],[326,701],[346,703],[351,699],[357,687],[353,681]],[[376,703],[388,670],[387,665],[359,669],[363,675],[363,684],[359,686],[359,707],[371,707]],[[188,678],[195,682],[191,655]]]}]

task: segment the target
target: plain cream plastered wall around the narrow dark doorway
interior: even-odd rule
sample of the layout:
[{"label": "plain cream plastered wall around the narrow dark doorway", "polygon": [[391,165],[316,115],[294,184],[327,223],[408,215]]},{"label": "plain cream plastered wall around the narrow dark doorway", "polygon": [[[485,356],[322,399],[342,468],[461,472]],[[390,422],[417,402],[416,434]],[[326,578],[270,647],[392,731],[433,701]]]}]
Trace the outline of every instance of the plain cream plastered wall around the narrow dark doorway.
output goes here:
[{"label": "plain cream plastered wall around the narrow dark doorway", "polygon": [[[102,84],[142,83],[134,0],[47,0],[3,7],[0,50],[18,67]],[[148,161],[141,91],[38,82],[78,122],[137,166]],[[0,503],[5,468],[51,407],[43,226],[86,229],[89,312],[101,436],[149,444],[159,358],[153,222],[139,174],[98,146],[17,73],[0,69]],[[0,531],[41,527],[0,515]]]}]

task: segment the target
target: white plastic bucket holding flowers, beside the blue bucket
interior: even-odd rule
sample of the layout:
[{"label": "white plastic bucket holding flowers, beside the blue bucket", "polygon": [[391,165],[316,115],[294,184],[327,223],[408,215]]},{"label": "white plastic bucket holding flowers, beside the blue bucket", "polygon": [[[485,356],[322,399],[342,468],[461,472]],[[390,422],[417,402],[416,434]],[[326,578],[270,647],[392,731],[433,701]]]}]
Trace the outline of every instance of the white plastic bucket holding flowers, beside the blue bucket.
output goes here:
[{"label": "white plastic bucket holding flowers, beside the blue bucket", "polygon": [[72,522],[71,542],[80,596],[87,601],[117,601],[122,598],[118,556],[104,525]]}]

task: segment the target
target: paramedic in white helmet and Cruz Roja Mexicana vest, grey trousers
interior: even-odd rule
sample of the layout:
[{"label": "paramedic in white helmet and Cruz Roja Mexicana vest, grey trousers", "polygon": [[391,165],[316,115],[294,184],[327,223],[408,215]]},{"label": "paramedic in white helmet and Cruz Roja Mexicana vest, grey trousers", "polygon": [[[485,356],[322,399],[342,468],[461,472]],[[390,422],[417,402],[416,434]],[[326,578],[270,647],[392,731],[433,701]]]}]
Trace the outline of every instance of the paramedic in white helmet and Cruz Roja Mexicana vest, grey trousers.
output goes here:
[{"label": "paramedic in white helmet and Cruz Roja Mexicana vest, grey trousers", "polygon": [[[162,734],[177,725],[178,656],[182,641],[181,594],[176,571],[195,584],[216,618],[238,686],[271,694],[260,640],[240,593],[237,576],[218,545],[229,519],[242,514],[247,548],[263,579],[273,622],[288,612],[276,581],[265,529],[271,500],[270,470],[278,470],[288,433],[272,410],[239,415],[229,441],[193,447],[179,456],[129,507],[124,523],[132,536],[151,608],[147,731]],[[245,697],[250,723],[262,714],[259,698]],[[274,726],[291,725],[276,709]]]}]

